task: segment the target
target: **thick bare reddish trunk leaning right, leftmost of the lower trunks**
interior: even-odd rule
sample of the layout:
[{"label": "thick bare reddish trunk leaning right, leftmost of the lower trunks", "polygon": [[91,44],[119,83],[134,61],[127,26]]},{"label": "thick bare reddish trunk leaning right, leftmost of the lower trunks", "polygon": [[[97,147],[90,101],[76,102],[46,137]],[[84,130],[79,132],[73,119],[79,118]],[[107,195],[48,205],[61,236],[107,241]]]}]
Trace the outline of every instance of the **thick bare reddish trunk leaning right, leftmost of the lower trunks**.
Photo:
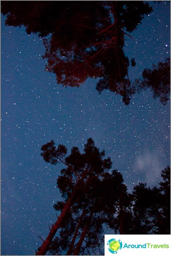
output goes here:
[{"label": "thick bare reddish trunk leaning right, leftmost of the lower trunks", "polygon": [[49,232],[49,235],[47,236],[46,240],[42,243],[41,247],[39,248],[38,252],[36,251],[36,255],[45,255],[45,253],[48,251],[48,247],[50,243],[52,242],[52,239],[54,235],[56,234],[56,231],[60,227],[60,224],[66,215],[66,213],[69,211],[73,204],[73,197],[75,195],[76,189],[74,189],[72,196],[68,199],[68,201],[65,204],[64,209],[62,210],[60,216],[58,217],[56,223],[52,226],[52,229]]}]

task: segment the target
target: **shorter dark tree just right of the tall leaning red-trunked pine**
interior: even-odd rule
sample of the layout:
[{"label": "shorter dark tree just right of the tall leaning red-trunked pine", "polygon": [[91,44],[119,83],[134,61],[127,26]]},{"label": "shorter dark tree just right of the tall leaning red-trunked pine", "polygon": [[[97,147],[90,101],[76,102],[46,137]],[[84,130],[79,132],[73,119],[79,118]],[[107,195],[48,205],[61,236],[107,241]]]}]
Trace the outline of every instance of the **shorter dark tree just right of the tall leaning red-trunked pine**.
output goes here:
[{"label": "shorter dark tree just right of the tall leaning red-trunked pine", "polygon": [[[112,175],[106,173],[105,176],[104,223],[121,235],[127,234],[131,229],[133,196],[127,192],[120,172],[114,170]],[[112,196],[109,197],[109,195]]]}]

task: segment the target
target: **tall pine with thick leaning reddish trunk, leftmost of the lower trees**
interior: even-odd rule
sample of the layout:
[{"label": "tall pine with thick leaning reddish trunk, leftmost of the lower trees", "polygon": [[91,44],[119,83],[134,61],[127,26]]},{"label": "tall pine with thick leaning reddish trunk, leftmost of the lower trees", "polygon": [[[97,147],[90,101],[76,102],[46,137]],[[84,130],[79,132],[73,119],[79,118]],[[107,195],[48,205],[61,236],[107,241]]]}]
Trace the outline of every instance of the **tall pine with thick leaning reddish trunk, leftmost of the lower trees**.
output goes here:
[{"label": "tall pine with thick leaning reddish trunk, leftmost of the lower trees", "polygon": [[80,153],[77,147],[73,147],[71,154],[65,157],[67,152],[66,147],[58,145],[56,148],[54,141],[43,145],[41,149],[43,151],[41,155],[45,161],[51,164],[56,164],[60,161],[67,167],[61,170],[61,175],[57,179],[58,188],[65,198],[66,203],[58,202],[56,207],[61,211],[61,214],[52,226],[46,240],[38,249],[38,252],[36,252],[37,255],[44,255],[46,253],[57,229],[62,225],[62,221],[71,211],[72,206],[79,206],[84,203],[86,200],[84,188],[87,181],[90,181],[93,177],[98,178],[111,167],[110,158],[103,159],[105,152],[99,152],[99,149],[95,147],[94,141],[91,138],[87,140],[84,148],[85,153],[83,154]]}]

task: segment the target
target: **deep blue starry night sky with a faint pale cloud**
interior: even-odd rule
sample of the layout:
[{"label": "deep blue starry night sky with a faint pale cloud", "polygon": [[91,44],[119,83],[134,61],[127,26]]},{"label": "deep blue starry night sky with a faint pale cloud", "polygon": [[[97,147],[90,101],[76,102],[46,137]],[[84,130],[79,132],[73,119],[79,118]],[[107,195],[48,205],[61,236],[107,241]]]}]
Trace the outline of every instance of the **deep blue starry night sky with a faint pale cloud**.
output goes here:
[{"label": "deep blue starry night sky with a faint pale cloud", "polygon": [[[129,78],[170,56],[170,3],[150,1],[154,11],[126,36],[135,58]],[[62,164],[40,156],[50,140],[83,152],[89,137],[123,175],[128,191],[138,182],[156,185],[170,165],[170,102],[144,91],[126,106],[122,97],[95,90],[97,80],[64,88],[45,70],[44,46],[24,27],[6,27],[1,15],[1,255],[34,255],[56,221],[61,200],[56,179]]]}]

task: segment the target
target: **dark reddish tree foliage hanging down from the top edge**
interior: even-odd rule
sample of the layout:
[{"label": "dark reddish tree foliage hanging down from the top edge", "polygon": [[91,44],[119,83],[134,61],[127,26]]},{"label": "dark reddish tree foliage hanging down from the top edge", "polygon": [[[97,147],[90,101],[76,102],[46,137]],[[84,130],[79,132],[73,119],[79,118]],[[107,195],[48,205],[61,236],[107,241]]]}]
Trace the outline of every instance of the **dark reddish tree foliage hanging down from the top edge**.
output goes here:
[{"label": "dark reddish tree foliage hanging down from the top edge", "polygon": [[158,71],[145,69],[137,88],[128,75],[135,59],[123,52],[125,36],[151,11],[145,1],[1,1],[6,25],[24,25],[28,34],[43,38],[46,70],[56,74],[58,83],[79,87],[87,77],[98,78],[99,93],[109,89],[126,105],[140,88],[150,87],[163,104],[169,98],[169,74],[159,80],[155,76],[162,72],[162,64]]}]

